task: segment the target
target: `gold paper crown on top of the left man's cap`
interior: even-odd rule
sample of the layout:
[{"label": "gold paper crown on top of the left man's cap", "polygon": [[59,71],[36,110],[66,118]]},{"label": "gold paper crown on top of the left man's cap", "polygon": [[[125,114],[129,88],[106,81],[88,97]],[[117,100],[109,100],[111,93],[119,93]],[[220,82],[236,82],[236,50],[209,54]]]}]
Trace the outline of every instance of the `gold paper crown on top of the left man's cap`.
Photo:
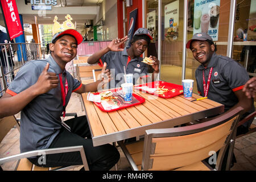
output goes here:
[{"label": "gold paper crown on top of the left man's cap", "polygon": [[60,24],[59,22],[57,22],[58,17],[55,16],[53,22],[53,27],[52,27],[52,35],[55,35],[57,32],[63,32],[65,30],[68,29],[76,29],[75,25],[71,22],[71,20],[73,20],[73,18],[71,18],[71,16],[69,14],[67,14],[65,16],[65,20],[62,24]]}]

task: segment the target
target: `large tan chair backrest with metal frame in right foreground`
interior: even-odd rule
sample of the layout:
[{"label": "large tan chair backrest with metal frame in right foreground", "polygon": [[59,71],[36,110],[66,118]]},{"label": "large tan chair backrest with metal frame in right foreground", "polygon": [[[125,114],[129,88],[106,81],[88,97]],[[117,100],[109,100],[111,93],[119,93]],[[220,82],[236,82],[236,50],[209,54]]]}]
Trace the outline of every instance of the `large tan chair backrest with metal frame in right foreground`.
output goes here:
[{"label": "large tan chair backrest with metal frame in right foreground", "polygon": [[[172,129],[147,130],[144,139],[142,169],[171,170],[207,159],[220,150],[217,169],[236,126],[242,107],[224,113],[208,122]],[[230,148],[232,150],[233,148]]]}]

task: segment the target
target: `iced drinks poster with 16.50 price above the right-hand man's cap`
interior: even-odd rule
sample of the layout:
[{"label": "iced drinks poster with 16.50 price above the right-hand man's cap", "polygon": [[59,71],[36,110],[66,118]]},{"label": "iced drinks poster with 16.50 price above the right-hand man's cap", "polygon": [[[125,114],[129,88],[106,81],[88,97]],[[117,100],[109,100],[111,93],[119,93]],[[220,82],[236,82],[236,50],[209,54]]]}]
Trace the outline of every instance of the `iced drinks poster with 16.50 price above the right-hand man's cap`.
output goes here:
[{"label": "iced drinks poster with 16.50 price above the right-hand man's cap", "polygon": [[195,0],[193,34],[205,32],[218,40],[220,0]]}]

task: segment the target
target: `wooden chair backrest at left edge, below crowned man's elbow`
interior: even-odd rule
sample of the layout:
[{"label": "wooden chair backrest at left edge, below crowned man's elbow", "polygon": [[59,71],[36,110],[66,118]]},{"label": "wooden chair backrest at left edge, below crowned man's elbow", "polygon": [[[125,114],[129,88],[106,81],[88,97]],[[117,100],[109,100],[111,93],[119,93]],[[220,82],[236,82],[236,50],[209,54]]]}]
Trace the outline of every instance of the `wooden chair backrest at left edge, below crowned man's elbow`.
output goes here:
[{"label": "wooden chair backrest at left edge, below crowned man's elbow", "polygon": [[0,119],[0,143],[16,124],[18,122],[16,122],[14,115]]}]

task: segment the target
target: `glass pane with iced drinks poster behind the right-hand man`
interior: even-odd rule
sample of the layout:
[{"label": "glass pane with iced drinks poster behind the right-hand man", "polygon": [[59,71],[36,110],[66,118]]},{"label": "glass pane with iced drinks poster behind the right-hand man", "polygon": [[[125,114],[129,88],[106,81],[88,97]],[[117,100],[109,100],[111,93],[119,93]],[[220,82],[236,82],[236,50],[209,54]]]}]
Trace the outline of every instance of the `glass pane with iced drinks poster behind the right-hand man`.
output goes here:
[{"label": "glass pane with iced drinks poster behind the right-hand man", "polygon": [[[216,53],[226,56],[229,34],[229,14],[230,0],[189,0],[187,40],[190,40],[193,34],[206,32],[217,45]],[[199,65],[199,62],[193,57],[191,50],[187,49],[185,78],[196,80],[195,71]],[[193,92],[197,93],[196,81],[194,84]]]}]

